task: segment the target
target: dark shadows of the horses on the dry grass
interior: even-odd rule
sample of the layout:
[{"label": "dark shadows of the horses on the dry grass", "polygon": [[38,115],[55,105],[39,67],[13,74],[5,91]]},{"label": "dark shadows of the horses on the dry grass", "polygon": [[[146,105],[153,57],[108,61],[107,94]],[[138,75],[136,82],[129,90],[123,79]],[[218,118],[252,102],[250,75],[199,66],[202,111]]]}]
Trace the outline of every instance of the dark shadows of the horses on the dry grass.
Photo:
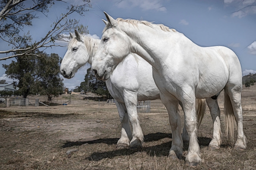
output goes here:
[{"label": "dark shadows of the horses on the dry grass", "polygon": [[[145,138],[145,143],[146,142],[152,142],[152,141],[158,141],[163,138],[172,138],[171,133],[151,133],[148,135],[144,135]],[[108,138],[108,139],[97,139],[97,140],[92,140],[92,141],[77,141],[77,142],[66,142],[62,148],[66,147],[71,147],[71,146],[80,146],[82,144],[99,144],[99,143],[105,143],[105,144],[117,144],[119,138]],[[201,146],[208,146],[211,142],[211,138],[207,137],[198,137],[198,143]],[[166,142],[166,143],[161,143],[155,146],[150,146],[150,147],[143,147],[140,150],[131,150],[131,149],[118,149],[114,151],[109,151],[109,152],[93,152],[91,156],[85,158],[87,160],[95,160],[99,161],[104,158],[114,158],[116,156],[126,156],[126,155],[131,155],[135,152],[146,152],[149,156],[168,156],[169,155],[169,150],[172,146],[172,141]],[[187,151],[188,150],[188,143],[183,144],[183,150]],[[185,160],[185,157],[182,157],[182,159]]]}]

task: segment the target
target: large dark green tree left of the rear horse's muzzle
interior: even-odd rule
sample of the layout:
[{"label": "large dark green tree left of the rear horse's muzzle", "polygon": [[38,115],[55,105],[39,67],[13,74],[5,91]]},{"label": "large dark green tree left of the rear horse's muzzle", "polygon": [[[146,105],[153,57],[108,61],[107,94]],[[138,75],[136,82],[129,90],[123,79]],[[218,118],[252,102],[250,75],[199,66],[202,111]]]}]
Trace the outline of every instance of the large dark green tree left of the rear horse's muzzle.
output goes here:
[{"label": "large dark green tree left of the rear horse's muzzle", "polygon": [[7,77],[17,79],[14,85],[26,98],[28,94],[53,94],[62,92],[63,79],[60,78],[60,56],[52,53],[48,55],[35,50],[36,55],[22,55],[15,57],[9,65],[3,64]]}]

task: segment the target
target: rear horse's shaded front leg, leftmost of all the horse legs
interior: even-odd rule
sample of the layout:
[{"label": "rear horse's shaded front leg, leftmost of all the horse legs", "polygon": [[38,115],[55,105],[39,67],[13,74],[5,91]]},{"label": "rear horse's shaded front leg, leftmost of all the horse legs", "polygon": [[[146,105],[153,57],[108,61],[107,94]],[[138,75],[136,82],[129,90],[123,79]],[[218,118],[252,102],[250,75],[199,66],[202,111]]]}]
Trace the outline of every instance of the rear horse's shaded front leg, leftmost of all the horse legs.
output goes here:
[{"label": "rear horse's shaded front leg, leftmost of all the horse legs", "polygon": [[119,103],[118,101],[116,101],[116,107],[118,110],[120,122],[122,124],[121,137],[117,142],[117,148],[128,148],[132,139],[132,131],[129,123],[128,114],[124,103]]}]

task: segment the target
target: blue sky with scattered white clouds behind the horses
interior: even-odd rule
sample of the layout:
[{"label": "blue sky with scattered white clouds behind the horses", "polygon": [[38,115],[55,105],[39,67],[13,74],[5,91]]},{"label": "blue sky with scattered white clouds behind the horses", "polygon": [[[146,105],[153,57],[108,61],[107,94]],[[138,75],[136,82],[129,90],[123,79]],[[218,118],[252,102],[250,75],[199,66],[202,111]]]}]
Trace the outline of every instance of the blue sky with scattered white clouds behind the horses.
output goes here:
[{"label": "blue sky with scattered white clouds behind the horses", "polygon": [[[71,2],[71,0],[68,0]],[[80,3],[79,0],[76,0]],[[103,11],[113,18],[132,18],[155,21],[184,33],[190,40],[200,46],[223,45],[233,49],[238,55],[243,75],[256,73],[256,6],[237,11],[256,0],[91,0],[92,8],[84,17],[73,15],[80,23],[88,25],[89,34],[101,38],[106,19]],[[43,37],[50,25],[65,10],[62,4],[54,6],[48,18],[39,17],[29,27],[30,34],[36,40]],[[235,12],[237,11],[237,12]],[[233,13],[231,13],[233,12]],[[62,42],[63,43],[63,42]],[[0,41],[0,50],[8,49],[8,45]],[[66,47],[48,48],[47,53],[65,55]],[[3,57],[5,55],[1,55]],[[9,64],[12,59],[0,61]],[[74,78],[65,79],[64,85],[69,89],[80,85],[84,80],[88,66],[80,69]],[[6,78],[5,70],[0,68],[0,79]]]}]

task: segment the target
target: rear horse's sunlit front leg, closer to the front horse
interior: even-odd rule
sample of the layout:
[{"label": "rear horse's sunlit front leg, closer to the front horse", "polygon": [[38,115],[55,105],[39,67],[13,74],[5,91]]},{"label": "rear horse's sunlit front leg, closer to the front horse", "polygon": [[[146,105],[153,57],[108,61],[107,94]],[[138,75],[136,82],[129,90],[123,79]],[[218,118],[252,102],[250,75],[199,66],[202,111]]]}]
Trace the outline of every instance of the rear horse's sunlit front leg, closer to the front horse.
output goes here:
[{"label": "rear horse's sunlit front leg, closer to the front horse", "polygon": [[132,124],[132,140],[130,142],[131,149],[141,149],[144,141],[139,116],[137,114],[137,101],[137,92],[124,90],[124,102],[127,108],[129,120]]}]

